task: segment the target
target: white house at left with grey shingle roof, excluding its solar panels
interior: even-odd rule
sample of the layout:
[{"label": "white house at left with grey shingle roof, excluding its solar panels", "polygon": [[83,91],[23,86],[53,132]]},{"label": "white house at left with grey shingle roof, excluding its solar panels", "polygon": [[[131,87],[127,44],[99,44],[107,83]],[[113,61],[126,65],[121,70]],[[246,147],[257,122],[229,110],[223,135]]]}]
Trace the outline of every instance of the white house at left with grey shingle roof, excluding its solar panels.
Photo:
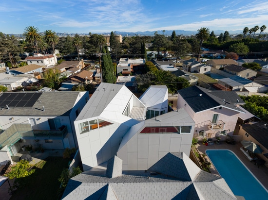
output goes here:
[{"label": "white house at left with grey shingle roof, excluding its solar panels", "polygon": [[[26,93],[26,92],[25,92]],[[12,94],[15,94],[13,92]],[[23,93],[22,93],[23,94]],[[13,129],[11,132],[19,133],[23,143],[11,143],[8,146],[11,153],[15,155],[20,147],[31,144],[35,147],[35,140],[42,145],[44,149],[65,149],[77,148],[77,139],[75,135],[74,123],[77,117],[77,110],[81,110],[89,99],[88,92],[45,92],[42,93],[32,108],[1,108],[0,109],[0,129],[8,130],[13,124],[30,124],[32,130],[46,132],[58,130],[61,126],[66,126],[67,133],[63,139],[57,137],[24,137],[25,130]],[[48,119],[53,119],[56,129],[52,129]],[[12,138],[14,139],[14,138]],[[50,139],[52,141],[46,142]],[[3,141],[0,141],[0,143]]]}]

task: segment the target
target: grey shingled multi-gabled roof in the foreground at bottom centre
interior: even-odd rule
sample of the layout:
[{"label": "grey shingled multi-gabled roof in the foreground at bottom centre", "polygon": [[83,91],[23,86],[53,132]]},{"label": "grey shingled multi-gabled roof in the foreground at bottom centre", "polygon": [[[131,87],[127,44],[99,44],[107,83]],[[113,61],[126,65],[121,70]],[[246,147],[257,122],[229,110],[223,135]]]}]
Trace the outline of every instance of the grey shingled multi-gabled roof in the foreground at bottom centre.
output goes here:
[{"label": "grey shingled multi-gabled roof in the foreground at bottom centre", "polygon": [[222,177],[201,170],[183,152],[167,153],[140,170],[122,170],[122,163],[114,156],[107,167],[71,178],[62,200],[237,200]]}]

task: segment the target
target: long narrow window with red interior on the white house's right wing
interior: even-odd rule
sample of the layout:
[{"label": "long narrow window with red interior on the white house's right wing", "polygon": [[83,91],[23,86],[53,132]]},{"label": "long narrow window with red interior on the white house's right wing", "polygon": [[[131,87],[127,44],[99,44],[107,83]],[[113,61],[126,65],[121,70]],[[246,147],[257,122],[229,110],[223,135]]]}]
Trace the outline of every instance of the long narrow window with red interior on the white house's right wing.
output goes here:
[{"label": "long narrow window with red interior on the white house's right wing", "polygon": [[145,127],[140,133],[191,133],[191,126],[161,126]]}]

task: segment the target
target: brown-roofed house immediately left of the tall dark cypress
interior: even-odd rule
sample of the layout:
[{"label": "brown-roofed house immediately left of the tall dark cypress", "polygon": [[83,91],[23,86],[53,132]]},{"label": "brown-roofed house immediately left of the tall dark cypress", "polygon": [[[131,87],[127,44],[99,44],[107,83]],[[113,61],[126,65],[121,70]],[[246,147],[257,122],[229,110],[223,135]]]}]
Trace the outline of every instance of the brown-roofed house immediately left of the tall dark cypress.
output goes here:
[{"label": "brown-roofed house immediately left of the tall dark cypress", "polygon": [[[75,68],[77,68],[77,67],[75,67]],[[73,69],[73,68],[71,68],[71,69]],[[88,84],[88,83],[92,83],[92,80],[93,80],[92,76],[93,76],[93,72],[88,71],[88,70],[82,70],[82,71],[70,76],[63,83],[75,83],[75,84],[85,83],[85,84]]]}]

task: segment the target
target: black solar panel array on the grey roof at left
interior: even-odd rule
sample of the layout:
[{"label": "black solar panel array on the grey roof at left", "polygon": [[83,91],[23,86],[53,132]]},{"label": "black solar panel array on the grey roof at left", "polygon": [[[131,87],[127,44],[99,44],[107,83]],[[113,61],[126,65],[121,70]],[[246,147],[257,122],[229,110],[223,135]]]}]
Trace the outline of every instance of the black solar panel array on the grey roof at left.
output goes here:
[{"label": "black solar panel array on the grey roof at left", "polygon": [[32,108],[42,93],[3,93],[0,96],[0,107]]}]

